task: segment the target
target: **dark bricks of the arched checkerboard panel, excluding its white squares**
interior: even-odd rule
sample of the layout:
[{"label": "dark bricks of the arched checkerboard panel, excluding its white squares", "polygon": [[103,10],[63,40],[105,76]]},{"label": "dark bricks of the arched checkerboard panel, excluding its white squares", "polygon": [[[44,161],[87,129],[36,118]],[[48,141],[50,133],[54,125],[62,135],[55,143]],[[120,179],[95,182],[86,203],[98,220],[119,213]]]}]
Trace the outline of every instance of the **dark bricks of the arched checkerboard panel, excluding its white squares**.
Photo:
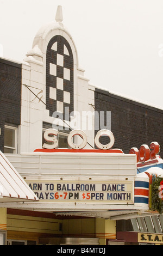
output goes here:
[{"label": "dark bricks of the arched checkerboard panel, excluding its white squares", "polygon": [[[54,43],[57,43],[57,49],[52,50]],[[64,46],[67,47],[68,55],[64,54]],[[64,58],[63,65],[57,64],[57,55],[60,55]],[[51,75],[49,65],[54,64],[57,66],[57,74]],[[70,80],[64,78],[64,68],[70,70]],[[70,121],[69,117],[66,119],[65,107],[68,108],[69,113],[73,112],[73,83],[74,83],[74,71],[73,71],[73,54],[68,41],[60,35],[54,36],[48,43],[47,54],[46,54],[46,107],[49,110],[49,115],[52,116],[53,112],[57,111],[57,101],[63,102],[65,120]],[[57,87],[57,78],[60,78],[63,82],[63,88]],[[57,89],[56,99],[49,99],[49,87]],[[64,102],[64,92],[70,93],[70,103]],[[68,113],[68,115],[69,115]]]}]

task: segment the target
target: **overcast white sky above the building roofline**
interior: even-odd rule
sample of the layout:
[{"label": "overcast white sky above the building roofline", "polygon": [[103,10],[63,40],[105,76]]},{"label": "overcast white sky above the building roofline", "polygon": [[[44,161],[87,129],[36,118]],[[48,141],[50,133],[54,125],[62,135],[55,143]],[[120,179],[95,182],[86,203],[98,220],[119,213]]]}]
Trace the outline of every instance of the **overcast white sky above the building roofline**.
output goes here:
[{"label": "overcast white sky above the building roofline", "polygon": [[163,109],[162,0],[0,0],[3,57],[22,61],[58,5],[91,84]]}]

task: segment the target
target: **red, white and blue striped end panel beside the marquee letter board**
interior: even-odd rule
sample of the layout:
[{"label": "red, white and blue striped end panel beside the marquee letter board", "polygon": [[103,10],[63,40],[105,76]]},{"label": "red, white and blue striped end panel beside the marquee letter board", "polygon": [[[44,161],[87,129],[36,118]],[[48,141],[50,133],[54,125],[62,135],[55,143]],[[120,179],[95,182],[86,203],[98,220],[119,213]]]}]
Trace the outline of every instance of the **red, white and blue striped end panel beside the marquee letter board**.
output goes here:
[{"label": "red, white and blue striped end panel beside the marquee letter board", "polygon": [[149,202],[149,182],[135,181],[135,203],[148,204]]}]

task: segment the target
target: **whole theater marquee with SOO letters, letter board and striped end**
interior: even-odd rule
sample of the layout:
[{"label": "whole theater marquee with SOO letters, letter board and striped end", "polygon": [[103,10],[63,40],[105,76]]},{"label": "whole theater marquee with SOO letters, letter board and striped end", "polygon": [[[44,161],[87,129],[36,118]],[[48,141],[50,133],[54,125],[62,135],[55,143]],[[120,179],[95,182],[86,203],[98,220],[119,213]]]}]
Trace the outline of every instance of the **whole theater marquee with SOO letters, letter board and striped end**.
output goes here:
[{"label": "whole theater marquee with SOO letters, letter board and striped end", "polygon": [[[99,131],[95,140],[97,149],[83,148],[86,136],[79,130],[68,135],[68,142],[73,142],[74,135],[80,135],[82,144],[80,140],[79,144],[70,143],[68,149],[57,148],[57,132],[47,130],[45,139],[53,144],[45,143],[34,153],[22,153],[16,158],[9,156],[39,199],[34,204],[22,204],[22,209],[89,211],[89,216],[98,215],[101,210],[108,217],[124,214],[126,210],[128,214],[129,210],[149,209],[148,175],[136,176],[136,154],[110,148],[114,144],[110,131]],[[107,147],[99,143],[103,135],[110,138]]]}]

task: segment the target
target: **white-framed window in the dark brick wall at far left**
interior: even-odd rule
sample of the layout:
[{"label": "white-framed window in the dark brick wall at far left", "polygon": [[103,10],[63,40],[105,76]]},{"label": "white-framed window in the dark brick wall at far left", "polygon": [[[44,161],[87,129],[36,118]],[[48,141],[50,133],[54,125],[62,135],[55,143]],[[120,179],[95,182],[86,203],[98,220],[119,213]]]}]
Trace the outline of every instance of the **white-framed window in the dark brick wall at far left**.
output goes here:
[{"label": "white-framed window in the dark brick wall at far left", "polygon": [[5,125],[4,127],[4,153],[17,153],[17,127]]}]

